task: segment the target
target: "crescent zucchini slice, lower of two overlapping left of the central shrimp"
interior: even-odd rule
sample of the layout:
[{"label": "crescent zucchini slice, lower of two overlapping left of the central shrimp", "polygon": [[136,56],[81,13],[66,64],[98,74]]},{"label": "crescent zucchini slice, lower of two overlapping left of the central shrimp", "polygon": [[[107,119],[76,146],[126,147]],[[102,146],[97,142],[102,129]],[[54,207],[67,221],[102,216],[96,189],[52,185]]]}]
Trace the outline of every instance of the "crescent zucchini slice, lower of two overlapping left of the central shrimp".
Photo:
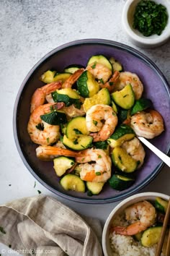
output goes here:
[{"label": "crescent zucchini slice, lower of two overlapping left of the central shrimp", "polygon": [[92,140],[93,138],[87,135],[81,135],[73,140],[68,139],[66,135],[63,136],[63,144],[72,150],[84,150],[90,148]]}]

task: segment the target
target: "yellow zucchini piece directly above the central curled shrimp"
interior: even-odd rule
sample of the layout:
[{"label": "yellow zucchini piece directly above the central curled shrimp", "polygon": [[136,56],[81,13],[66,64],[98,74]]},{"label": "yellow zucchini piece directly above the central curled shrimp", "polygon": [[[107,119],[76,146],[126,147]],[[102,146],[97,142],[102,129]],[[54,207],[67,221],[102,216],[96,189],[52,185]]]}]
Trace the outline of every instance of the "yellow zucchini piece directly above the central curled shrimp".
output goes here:
[{"label": "yellow zucchini piece directly above the central curled shrimp", "polygon": [[83,104],[84,111],[88,111],[91,106],[97,105],[97,104],[104,104],[109,105],[110,104],[110,95],[109,90],[107,88],[103,88],[102,90],[99,90],[99,92],[95,95],[93,95],[91,98],[86,98]]}]

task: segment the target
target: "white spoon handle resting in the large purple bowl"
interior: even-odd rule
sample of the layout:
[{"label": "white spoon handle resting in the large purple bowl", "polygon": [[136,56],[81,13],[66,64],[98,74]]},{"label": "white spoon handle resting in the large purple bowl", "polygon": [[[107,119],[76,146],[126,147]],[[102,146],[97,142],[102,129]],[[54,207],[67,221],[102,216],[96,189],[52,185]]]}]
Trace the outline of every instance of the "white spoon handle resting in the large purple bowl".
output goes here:
[{"label": "white spoon handle resting in the large purple bowl", "polygon": [[153,146],[151,144],[151,142],[148,142],[148,140],[146,140],[143,137],[138,137],[138,139],[143,142],[143,144],[145,144],[150,150],[153,151],[153,153],[155,153],[158,158],[161,158],[162,161],[164,161],[164,163],[167,164],[167,166],[170,167],[170,158],[168,155],[164,154],[163,152],[161,152],[161,150],[158,150],[158,148],[156,148],[155,146]]}]

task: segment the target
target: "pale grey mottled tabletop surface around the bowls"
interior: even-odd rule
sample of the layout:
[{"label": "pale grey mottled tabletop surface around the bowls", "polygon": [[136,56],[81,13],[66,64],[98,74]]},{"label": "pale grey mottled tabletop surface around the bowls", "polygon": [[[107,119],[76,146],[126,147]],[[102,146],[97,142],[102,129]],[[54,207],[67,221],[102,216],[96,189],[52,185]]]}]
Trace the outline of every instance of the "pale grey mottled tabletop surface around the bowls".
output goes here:
[{"label": "pale grey mottled tabletop surface around the bowls", "polygon": [[[121,27],[124,4],[125,0],[0,0],[0,204],[37,195],[39,189],[78,213],[99,218],[102,223],[117,205],[118,202],[79,204],[53,195],[39,182],[34,187],[35,178],[22,163],[14,143],[12,116],[24,77],[53,48],[83,38],[103,38],[133,46]],[[155,49],[133,47],[151,58],[170,83],[170,41]],[[170,195],[169,178],[170,170],[165,166],[156,179],[140,192]],[[1,248],[4,246],[0,246],[0,253]]]}]

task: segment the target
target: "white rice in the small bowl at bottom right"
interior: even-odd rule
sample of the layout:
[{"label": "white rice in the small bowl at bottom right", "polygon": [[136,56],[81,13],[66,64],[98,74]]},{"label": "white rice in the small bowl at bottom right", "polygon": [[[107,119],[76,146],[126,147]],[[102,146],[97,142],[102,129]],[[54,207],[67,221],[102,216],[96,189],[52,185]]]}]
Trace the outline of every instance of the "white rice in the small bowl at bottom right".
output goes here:
[{"label": "white rice in the small bowl at bottom right", "polygon": [[[125,216],[117,216],[113,221],[113,226],[128,226]],[[155,256],[157,244],[152,247],[143,247],[140,242],[136,242],[133,236],[122,236],[120,234],[109,234],[112,256]],[[161,256],[165,256],[161,253]]]}]

